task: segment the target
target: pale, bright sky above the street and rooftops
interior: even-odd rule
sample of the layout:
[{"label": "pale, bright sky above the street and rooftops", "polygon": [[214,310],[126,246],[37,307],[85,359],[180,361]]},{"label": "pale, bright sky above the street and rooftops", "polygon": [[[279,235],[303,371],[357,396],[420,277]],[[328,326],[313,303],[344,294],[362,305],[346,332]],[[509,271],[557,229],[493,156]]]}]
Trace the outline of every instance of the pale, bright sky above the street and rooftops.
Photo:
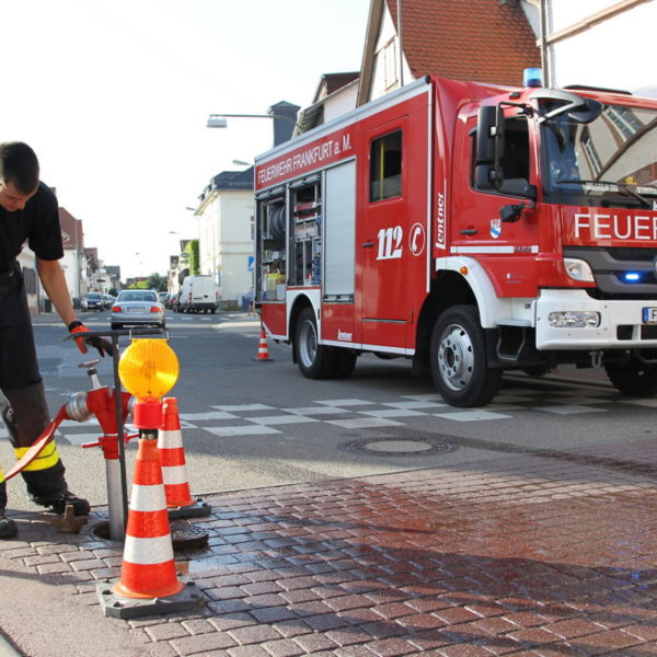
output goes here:
[{"label": "pale, bright sky above the street and rooftops", "polygon": [[122,278],[164,274],[210,178],[272,147],[265,114],[360,69],[370,0],[7,0],[0,141],[42,180]]}]

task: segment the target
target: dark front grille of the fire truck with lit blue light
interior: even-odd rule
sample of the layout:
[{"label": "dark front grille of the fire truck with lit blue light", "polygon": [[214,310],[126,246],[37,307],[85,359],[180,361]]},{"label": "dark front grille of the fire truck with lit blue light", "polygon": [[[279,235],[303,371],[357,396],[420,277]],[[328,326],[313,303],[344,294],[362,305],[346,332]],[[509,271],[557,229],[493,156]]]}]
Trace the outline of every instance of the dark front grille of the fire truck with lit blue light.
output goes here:
[{"label": "dark front grille of the fire truck with lit blue light", "polygon": [[586,261],[596,279],[596,299],[657,299],[655,249],[565,246],[564,257]]}]

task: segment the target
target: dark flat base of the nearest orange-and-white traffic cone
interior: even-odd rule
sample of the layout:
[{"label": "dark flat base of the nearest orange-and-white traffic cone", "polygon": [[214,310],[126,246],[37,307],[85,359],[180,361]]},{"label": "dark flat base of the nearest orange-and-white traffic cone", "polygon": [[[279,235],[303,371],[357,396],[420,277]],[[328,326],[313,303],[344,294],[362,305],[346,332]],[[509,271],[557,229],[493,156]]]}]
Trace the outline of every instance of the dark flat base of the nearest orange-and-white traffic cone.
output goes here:
[{"label": "dark flat base of the nearest orange-and-white traffic cone", "polygon": [[101,581],[96,593],[103,615],[114,619],[134,619],[153,613],[173,613],[194,610],[203,604],[204,598],[196,585],[183,578],[183,588],[178,593],[165,598],[127,598],[114,592],[118,580]]}]

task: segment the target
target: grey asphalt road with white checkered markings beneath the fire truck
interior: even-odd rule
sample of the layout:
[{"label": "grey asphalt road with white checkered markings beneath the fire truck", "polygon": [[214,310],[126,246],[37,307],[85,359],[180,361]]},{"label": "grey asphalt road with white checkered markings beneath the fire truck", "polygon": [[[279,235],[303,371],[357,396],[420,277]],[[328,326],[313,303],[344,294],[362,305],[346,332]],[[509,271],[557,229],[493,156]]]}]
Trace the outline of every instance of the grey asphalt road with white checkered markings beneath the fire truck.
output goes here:
[{"label": "grey asphalt road with white checkered markings beneath the fire truck", "polygon": [[[92,330],[108,330],[108,313],[84,313]],[[70,394],[89,389],[88,360],[56,315],[34,320],[51,415]],[[446,405],[429,379],[411,376],[407,361],[359,359],[354,376],[309,381],[291,362],[290,348],[268,341],[272,360],[257,360],[260,324],[243,313],[182,315],[168,312],[170,344],[181,373],[169,393],[177,399],[187,472],[195,495],[221,491],[351,477],[505,453],[560,450],[654,434],[657,401],[623,397],[600,372],[557,370],[530,379],[505,377],[494,403],[461,410]],[[122,347],[127,338],[122,338]],[[113,385],[112,361],[99,366]],[[70,487],[93,505],[107,500],[95,420],[67,422],[57,443]],[[136,440],[126,449],[130,481]],[[7,471],[13,463],[0,440]],[[10,482],[10,508],[33,510],[20,477]]]}]

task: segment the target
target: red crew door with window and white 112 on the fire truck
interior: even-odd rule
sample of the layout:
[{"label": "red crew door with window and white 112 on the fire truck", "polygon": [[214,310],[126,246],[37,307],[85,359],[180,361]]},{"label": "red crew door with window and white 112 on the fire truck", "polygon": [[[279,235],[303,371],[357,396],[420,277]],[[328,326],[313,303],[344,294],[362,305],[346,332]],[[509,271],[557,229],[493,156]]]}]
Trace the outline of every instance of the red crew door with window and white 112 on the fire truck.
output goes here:
[{"label": "red crew door with window and white 112 on the fire truck", "polygon": [[370,160],[367,180],[362,181],[364,220],[357,232],[364,346],[405,347],[405,125],[406,117],[402,117],[368,134]]}]

